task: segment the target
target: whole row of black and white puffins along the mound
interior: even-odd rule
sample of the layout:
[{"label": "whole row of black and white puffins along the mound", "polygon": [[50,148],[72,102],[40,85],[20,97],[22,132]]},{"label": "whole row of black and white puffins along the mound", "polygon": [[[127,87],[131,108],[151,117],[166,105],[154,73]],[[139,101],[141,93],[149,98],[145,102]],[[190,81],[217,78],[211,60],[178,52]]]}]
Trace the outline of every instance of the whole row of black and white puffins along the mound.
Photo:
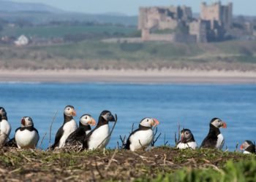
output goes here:
[{"label": "whole row of black and white puffins along the mound", "polygon": [[[79,127],[73,116],[76,116],[73,106],[64,108],[64,122],[56,133],[55,141],[50,150],[61,149],[66,146],[82,146],[83,149],[105,148],[110,141],[110,128],[108,122],[116,122],[116,117],[110,111],[102,111],[96,125],[95,119],[90,114],[80,117]],[[21,126],[15,130],[14,138],[10,139],[11,126],[7,119],[7,112],[0,107],[0,146],[12,146],[19,149],[35,149],[39,141],[39,134],[34,127],[33,120],[29,116],[21,119]],[[159,121],[154,118],[144,118],[140,121],[137,130],[133,131],[124,149],[136,151],[150,146],[154,139],[152,127]],[[96,125],[94,130],[91,126]],[[222,149],[224,137],[219,128],[226,128],[227,124],[219,118],[211,119],[208,135],[203,140],[201,148]],[[189,129],[181,130],[181,140],[176,146],[178,149],[196,149],[197,143]],[[241,150],[244,154],[255,154],[255,144],[252,141],[244,141]]]}]

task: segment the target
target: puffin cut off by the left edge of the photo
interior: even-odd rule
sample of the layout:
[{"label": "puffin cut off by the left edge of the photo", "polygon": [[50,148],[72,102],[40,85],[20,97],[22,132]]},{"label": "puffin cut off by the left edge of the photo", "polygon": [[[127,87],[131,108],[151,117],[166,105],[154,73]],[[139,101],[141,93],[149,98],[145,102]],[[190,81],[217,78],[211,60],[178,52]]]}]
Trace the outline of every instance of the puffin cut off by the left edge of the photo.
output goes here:
[{"label": "puffin cut off by the left edge of the photo", "polygon": [[0,146],[4,146],[9,140],[12,127],[7,119],[7,112],[0,107]]}]

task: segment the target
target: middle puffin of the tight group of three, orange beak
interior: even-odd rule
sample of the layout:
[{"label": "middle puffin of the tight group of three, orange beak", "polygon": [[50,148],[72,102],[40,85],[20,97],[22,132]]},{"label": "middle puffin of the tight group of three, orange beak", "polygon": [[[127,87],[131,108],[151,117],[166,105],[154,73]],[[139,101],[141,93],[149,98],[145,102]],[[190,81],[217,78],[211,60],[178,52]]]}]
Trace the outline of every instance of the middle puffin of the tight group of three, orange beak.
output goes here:
[{"label": "middle puffin of the tight group of three, orange beak", "polygon": [[65,146],[81,146],[86,138],[86,135],[91,132],[91,126],[95,126],[95,119],[90,114],[83,114],[80,117],[79,127],[75,132],[72,132],[66,142]]}]

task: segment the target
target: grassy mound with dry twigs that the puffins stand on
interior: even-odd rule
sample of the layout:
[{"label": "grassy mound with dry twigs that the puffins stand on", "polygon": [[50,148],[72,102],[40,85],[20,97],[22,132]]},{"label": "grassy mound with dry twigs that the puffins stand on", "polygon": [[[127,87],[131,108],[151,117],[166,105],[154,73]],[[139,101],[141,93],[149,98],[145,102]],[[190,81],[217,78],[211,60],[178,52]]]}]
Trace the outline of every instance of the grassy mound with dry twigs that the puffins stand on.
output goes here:
[{"label": "grassy mound with dry twigs that the puffins stand on", "polygon": [[[3,181],[255,181],[256,156],[217,150],[1,149]],[[8,172],[8,173],[7,173]]]}]

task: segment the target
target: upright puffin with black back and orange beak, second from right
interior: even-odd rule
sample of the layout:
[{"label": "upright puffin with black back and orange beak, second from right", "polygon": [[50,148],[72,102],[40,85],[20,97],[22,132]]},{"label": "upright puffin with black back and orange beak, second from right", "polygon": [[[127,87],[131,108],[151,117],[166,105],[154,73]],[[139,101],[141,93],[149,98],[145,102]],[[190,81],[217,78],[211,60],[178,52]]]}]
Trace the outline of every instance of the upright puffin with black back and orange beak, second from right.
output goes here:
[{"label": "upright puffin with black back and orange beak, second from right", "polygon": [[222,133],[219,131],[219,128],[227,128],[227,124],[219,118],[211,119],[210,130],[203,140],[200,146],[201,148],[222,149],[225,140]]}]

